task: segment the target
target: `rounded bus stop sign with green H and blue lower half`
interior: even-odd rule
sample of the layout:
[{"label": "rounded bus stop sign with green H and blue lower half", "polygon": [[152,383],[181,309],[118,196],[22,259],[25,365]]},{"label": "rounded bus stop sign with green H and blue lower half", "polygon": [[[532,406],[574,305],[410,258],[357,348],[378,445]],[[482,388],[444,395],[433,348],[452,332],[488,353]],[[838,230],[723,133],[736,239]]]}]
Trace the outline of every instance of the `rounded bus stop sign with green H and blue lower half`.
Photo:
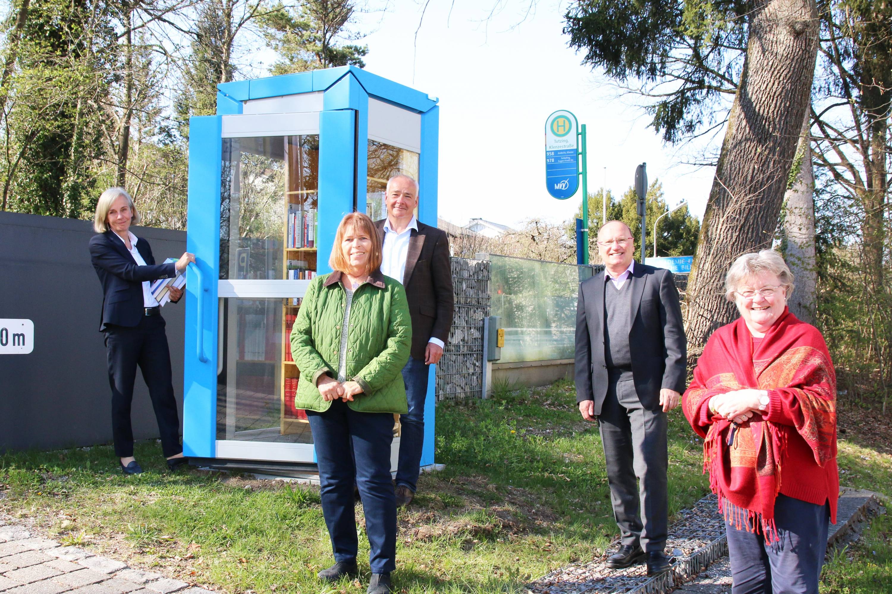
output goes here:
[{"label": "rounded bus stop sign with green H and blue lower half", "polygon": [[579,187],[579,124],[566,110],[545,120],[545,186],[558,200],[576,194]]}]

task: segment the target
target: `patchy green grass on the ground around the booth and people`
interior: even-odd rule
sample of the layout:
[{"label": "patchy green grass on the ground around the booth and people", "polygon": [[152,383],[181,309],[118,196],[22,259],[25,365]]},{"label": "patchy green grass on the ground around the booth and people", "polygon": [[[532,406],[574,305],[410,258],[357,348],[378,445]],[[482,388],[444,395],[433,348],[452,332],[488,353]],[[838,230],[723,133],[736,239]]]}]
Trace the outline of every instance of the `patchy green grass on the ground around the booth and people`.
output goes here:
[{"label": "patchy green grass on the ground around the booth and people", "polygon": [[[519,592],[524,583],[591,559],[617,534],[597,428],[576,412],[572,384],[444,402],[437,461],[399,515],[397,591]],[[669,506],[707,492],[701,441],[676,409],[669,422]],[[123,477],[111,448],[0,456],[0,509],[49,536],[131,565],[229,592],[359,593],[315,578],[332,562],[318,490],[249,476],[167,474],[155,442],[137,444],[145,474]],[[866,459],[865,459],[866,458]],[[840,443],[843,481],[879,489],[888,456]],[[368,542],[359,519],[359,561]],[[830,573],[829,573],[830,574]],[[841,590],[840,590],[841,591]],[[853,590],[854,591],[854,590]],[[867,590],[865,590],[867,591]]]}]

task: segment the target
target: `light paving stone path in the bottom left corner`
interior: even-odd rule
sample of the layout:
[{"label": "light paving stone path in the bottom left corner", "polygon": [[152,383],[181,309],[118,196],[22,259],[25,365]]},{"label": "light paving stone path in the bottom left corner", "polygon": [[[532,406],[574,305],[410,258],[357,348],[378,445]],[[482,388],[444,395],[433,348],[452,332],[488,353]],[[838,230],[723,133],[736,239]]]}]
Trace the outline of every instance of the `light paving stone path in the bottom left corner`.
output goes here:
[{"label": "light paving stone path in the bottom left corner", "polygon": [[161,573],[128,567],[77,547],[32,536],[0,519],[0,592],[3,594],[218,594]]}]

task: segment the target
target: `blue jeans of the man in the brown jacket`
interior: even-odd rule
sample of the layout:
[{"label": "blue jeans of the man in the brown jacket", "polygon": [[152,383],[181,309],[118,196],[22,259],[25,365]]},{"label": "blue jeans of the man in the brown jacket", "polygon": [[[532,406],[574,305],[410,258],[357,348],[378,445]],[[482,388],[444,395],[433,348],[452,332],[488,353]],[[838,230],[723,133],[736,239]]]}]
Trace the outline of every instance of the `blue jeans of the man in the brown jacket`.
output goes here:
[{"label": "blue jeans of the man in the brown jacket", "polygon": [[425,444],[427,370],[428,366],[424,361],[412,357],[409,357],[406,367],[402,368],[409,412],[400,416],[400,462],[396,470],[396,483],[409,487],[413,493],[417,489],[418,474],[421,472],[421,449]]}]

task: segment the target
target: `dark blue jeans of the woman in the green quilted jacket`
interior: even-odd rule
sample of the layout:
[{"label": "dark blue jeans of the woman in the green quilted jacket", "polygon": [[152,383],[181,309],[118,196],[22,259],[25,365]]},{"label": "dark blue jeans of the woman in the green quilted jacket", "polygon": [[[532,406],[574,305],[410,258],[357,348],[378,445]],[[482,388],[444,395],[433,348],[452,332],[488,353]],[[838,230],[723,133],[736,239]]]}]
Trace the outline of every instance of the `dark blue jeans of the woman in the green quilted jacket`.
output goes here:
[{"label": "dark blue jeans of the woman in the green quilted jacket", "polygon": [[307,418],[335,561],[355,559],[359,548],[355,481],[366,516],[368,564],[372,573],[392,572],[396,568],[396,496],[390,474],[393,415],[357,412],[335,400],[325,412],[308,410]]}]

